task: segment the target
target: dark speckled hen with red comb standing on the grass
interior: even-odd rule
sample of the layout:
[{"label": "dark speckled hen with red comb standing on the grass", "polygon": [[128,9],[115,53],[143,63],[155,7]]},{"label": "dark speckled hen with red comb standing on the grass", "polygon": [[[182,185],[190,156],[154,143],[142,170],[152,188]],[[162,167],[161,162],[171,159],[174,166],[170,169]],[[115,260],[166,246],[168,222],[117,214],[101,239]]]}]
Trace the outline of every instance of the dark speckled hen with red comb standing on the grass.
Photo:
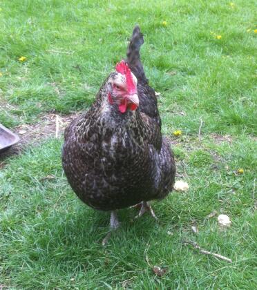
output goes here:
[{"label": "dark speckled hen with red comb standing on the grass", "polygon": [[70,186],[88,206],[111,211],[112,230],[119,226],[117,209],[141,204],[137,217],[150,211],[156,218],[149,200],[166,197],[175,178],[158,101],[140,61],[142,43],[136,26],[126,61],[116,65],[91,108],[64,135],[62,162]]}]

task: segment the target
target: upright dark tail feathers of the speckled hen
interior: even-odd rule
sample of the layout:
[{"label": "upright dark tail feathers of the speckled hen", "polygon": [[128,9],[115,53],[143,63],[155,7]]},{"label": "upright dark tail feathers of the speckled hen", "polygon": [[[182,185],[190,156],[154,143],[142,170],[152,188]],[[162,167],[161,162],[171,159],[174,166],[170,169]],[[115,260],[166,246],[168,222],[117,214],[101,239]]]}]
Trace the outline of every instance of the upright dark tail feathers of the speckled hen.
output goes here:
[{"label": "upright dark tail feathers of the speckled hen", "polygon": [[137,81],[148,83],[148,79],[146,79],[144,68],[140,61],[140,46],[142,46],[143,43],[144,38],[140,32],[140,28],[139,26],[135,26],[131,36],[131,41],[128,44],[128,49],[126,50],[126,62],[135,77],[137,77]]}]

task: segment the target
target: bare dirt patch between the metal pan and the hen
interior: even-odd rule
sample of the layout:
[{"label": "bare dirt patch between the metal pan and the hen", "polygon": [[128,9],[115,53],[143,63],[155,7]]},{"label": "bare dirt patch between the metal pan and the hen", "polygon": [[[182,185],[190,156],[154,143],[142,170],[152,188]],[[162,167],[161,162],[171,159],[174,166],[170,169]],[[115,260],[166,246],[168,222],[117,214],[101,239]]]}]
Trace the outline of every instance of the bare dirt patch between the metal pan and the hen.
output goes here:
[{"label": "bare dirt patch between the metal pan and the hen", "polygon": [[8,157],[17,155],[23,151],[28,144],[38,144],[42,139],[49,137],[60,137],[64,134],[64,129],[70,124],[79,113],[69,115],[56,115],[50,113],[41,117],[36,124],[22,124],[12,128],[12,132],[16,133],[20,140],[8,151],[0,155],[0,168],[6,165]]}]

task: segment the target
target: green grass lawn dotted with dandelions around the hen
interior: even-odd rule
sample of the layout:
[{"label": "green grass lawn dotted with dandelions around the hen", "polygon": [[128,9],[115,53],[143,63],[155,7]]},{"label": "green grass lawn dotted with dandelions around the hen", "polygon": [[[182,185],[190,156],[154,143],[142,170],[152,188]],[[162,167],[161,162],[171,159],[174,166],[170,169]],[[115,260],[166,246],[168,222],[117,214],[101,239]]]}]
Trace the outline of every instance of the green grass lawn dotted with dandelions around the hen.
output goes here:
[{"label": "green grass lawn dotted with dandelions around the hen", "polygon": [[[161,93],[163,132],[182,130],[173,149],[190,186],[153,203],[158,223],[148,215],[131,223],[136,211],[120,211],[122,227],[103,248],[108,214],[71,191],[61,169],[63,140],[30,146],[0,172],[0,284],[256,289],[254,10],[254,1],[239,0],[0,2],[1,123],[12,128],[50,111],[88,108],[139,23],[146,74]],[[229,229],[221,230],[216,217],[206,219],[214,210],[229,215]],[[233,262],[202,255],[182,240]],[[167,273],[155,276],[154,265]]]}]

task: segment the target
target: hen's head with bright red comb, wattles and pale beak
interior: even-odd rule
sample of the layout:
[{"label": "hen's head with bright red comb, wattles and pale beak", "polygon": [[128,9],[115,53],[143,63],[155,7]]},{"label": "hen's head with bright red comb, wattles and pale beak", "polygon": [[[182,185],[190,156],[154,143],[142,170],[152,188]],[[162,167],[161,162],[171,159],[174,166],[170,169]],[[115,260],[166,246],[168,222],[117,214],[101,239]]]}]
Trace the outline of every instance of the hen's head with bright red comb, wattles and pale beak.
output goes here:
[{"label": "hen's head with bright red comb, wattles and pale beak", "polygon": [[108,81],[108,101],[117,104],[121,113],[135,110],[139,106],[137,96],[137,78],[124,60],[116,65],[115,74]]}]

